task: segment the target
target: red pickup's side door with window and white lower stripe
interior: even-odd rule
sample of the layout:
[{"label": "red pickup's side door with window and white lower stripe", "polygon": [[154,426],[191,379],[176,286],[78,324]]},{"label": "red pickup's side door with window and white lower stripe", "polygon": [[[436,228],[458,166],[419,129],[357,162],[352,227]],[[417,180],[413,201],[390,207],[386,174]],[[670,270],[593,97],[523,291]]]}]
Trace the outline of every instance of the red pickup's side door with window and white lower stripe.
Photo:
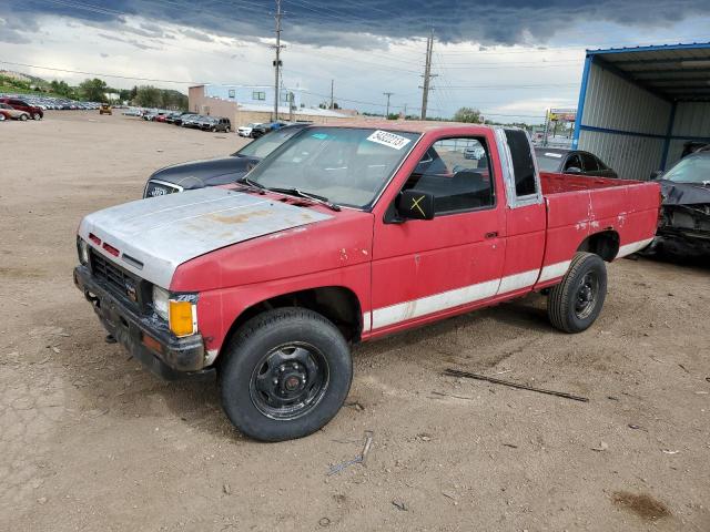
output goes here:
[{"label": "red pickup's side door with window and white lower stripe", "polygon": [[[466,158],[465,151],[477,153]],[[484,137],[442,139],[402,190],[428,192],[433,219],[397,221],[389,206],[375,225],[372,330],[405,328],[496,295],[505,258],[503,193]],[[500,200],[498,200],[500,197]]]}]

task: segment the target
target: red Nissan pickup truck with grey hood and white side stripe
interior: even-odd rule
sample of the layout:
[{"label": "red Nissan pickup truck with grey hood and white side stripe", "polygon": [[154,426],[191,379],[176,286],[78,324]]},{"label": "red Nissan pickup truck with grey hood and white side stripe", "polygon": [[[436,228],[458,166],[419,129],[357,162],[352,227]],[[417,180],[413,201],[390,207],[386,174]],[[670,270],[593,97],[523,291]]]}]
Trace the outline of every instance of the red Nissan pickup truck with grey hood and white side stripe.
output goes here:
[{"label": "red Nissan pickup truck with grey hood and white side stripe", "polygon": [[534,290],[554,327],[587,329],[605,262],[651,242],[660,200],[540,175],[516,129],[308,126],[233,185],[88,215],[74,282],[136,359],[216,374],[230,420],[277,441],[335,416],[351,344]]}]

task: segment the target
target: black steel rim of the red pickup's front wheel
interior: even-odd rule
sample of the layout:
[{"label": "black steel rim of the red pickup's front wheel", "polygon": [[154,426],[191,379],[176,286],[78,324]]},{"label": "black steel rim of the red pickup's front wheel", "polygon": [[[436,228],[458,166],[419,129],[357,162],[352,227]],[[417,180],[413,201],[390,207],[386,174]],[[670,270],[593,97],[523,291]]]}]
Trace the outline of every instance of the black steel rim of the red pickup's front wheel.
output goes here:
[{"label": "black steel rim of the red pickup's front wheel", "polygon": [[313,410],[328,382],[328,365],[321,350],[305,342],[288,342],[260,360],[252,372],[248,392],[264,416],[291,420]]}]

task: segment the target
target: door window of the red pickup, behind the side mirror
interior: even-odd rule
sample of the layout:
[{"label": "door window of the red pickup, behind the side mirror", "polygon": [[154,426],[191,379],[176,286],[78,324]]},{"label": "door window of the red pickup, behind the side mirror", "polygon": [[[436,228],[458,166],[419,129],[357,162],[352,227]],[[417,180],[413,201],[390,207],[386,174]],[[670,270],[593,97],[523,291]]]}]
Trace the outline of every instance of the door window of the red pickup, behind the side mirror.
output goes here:
[{"label": "door window of the red pickup, behind the side mirror", "polygon": [[435,142],[403,190],[432,194],[436,215],[494,206],[493,174],[485,141],[456,137]]}]

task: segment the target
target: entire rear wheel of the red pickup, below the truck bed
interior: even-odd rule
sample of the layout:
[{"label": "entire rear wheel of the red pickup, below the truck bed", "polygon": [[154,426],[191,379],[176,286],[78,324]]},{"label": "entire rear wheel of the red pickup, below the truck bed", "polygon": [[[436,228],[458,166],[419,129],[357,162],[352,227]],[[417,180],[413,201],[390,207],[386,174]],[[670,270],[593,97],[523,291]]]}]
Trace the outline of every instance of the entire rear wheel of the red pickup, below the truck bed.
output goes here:
[{"label": "entire rear wheel of the red pickup, below the truck bed", "polygon": [[577,253],[559,285],[550,289],[547,315],[565,332],[581,332],[601,313],[607,295],[607,266],[599,255]]}]

